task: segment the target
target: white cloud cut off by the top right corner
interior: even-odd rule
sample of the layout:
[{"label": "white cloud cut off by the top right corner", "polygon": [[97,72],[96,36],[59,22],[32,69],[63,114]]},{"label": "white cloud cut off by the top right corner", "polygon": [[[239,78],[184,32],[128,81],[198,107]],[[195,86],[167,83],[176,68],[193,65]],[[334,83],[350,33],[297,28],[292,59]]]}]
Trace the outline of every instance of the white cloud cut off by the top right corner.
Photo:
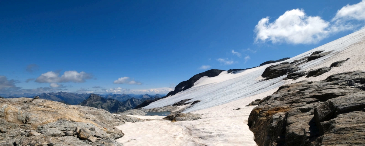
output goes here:
[{"label": "white cloud cut off by the top right corner", "polygon": [[332,19],[332,21],[343,21],[343,20],[365,20],[365,0],[362,0],[360,3],[349,5],[342,7],[336,13],[336,16]]}]

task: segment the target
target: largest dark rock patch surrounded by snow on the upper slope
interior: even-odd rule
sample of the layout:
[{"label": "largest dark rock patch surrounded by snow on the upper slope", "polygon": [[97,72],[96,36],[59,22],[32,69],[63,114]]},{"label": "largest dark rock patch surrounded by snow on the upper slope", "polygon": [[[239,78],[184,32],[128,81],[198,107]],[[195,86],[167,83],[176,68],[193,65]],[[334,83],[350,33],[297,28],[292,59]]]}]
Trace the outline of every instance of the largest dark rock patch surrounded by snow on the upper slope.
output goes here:
[{"label": "largest dark rock patch surrounded by snow on the upper slope", "polygon": [[265,69],[262,73],[262,77],[266,77],[266,80],[283,76],[287,73],[293,73],[299,70],[299,68],[289,62],[283,62],[281,64],[272,65]]}]

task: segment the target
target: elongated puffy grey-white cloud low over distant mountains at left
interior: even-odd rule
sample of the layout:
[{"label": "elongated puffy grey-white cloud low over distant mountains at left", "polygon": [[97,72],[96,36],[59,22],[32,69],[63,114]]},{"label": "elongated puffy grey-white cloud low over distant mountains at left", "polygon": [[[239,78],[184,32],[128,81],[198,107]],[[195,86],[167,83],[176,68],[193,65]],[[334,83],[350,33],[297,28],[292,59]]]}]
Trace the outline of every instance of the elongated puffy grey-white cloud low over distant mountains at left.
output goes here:
[{"label": "elongated puffy grey-white cloud low over distant mountains at left", "polygon": [[55,82],[85,82],[87,79],[91,79],[93,77],[92,74],[85,72],[77,72],[74,70],[69,70],[64,72],[64,74],[60,77],[57,72],[46,72],[41,74],[35,82],[39,83],[55,83]]}]

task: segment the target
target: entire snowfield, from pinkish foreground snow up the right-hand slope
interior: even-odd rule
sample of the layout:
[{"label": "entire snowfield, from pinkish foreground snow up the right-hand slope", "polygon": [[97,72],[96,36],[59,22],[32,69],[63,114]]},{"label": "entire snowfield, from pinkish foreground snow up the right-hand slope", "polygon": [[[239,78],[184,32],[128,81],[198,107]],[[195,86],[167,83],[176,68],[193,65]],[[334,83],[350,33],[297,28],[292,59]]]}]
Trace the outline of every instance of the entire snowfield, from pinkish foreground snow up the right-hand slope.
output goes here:
[{"label": "entire snowfield, from pinkish foreground snow up the right-hand slope", "polygon": [[[117,126],[126,134],[118,139],[118,142],[122,142],[125,146],[256,146],[253,133],[247,126],[248,116],[254,107],[245,107],[245,105],[255,99],[262,99],[271,95],[284,84],[301,80],[319,81],[331,74],[365,70],[365,29],[286,61],[292,62],[319,50],[332,52],[324,57],[299,65],[301,70],[298,72],[330,66],[333,62],[346,58],[350,59],[342,66],[334,67],[318,77],[306,78],[304,76],[295,81],[291,79],[283,81],[286,76],[266,81],[261,77],[265,68],[281,62],[235,73],[224,71],[216,77],[202,77],[195,82],[192,88],[144,107],[164,107],[183,99],[201,100],[183,112],[202,114],[202,119],[174,123],[161,120],[127,123]],[[238,107],[242,110],[233,110]]]}]

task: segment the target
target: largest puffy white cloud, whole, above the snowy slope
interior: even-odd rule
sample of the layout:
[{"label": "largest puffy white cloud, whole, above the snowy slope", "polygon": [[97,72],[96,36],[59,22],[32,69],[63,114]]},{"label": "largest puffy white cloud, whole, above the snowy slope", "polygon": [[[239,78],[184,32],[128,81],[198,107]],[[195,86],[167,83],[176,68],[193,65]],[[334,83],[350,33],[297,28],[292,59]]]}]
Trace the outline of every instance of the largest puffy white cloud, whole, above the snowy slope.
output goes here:
[{"label": "largest puffy white cloud, whole, above the snowy slope", "polygon": [[293,9],[286,11],[273,23],[269,23],[269,17],[262,18],[255,26],[255,42],[317,43],[328,36],[329,25],[319,16],[307,16],[303,9]]}]

